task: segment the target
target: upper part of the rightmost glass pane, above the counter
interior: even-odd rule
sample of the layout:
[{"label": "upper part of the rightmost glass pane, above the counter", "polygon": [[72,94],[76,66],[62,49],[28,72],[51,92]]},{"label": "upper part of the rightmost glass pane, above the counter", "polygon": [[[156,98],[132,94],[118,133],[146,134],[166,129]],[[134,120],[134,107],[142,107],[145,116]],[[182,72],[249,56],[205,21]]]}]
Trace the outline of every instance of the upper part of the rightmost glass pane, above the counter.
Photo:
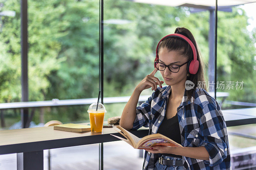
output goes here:
[{"label": "upper part of the rightmost glass pane, above the counter", "polygon": [[256,3],[218,11],[217,91],[227,92],[222,109],[256,107]]}]

